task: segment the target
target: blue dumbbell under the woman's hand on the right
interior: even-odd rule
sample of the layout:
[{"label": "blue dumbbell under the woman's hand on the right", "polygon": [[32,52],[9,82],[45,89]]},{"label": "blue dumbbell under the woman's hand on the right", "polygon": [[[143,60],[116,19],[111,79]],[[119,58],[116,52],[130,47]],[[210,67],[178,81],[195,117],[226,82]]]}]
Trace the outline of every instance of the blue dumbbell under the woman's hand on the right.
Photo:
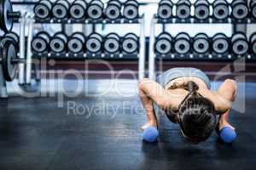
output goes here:
[{"label": "blue dumbbell under the woman's hand on the right", "polygon": [[219,132],[219,137],[224,143],[232,143],[236,139],[236,131],[231,127],[223,127]]}]

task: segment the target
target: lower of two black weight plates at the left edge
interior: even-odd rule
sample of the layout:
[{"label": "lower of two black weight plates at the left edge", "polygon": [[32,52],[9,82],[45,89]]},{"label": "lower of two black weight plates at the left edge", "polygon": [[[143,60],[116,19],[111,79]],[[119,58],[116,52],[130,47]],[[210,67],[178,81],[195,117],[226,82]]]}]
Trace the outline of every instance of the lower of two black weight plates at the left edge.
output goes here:
[{"label": "lower of two black weight plates at the left edge", "polygon": [[0,54],[2,56],[2,68],[3,77],[7,82],[11,82],[15,79],[18,64],[13,63],[13,59],[17,59],[17,51],[14,41],[9,39],[4,39],[0,45]]}]

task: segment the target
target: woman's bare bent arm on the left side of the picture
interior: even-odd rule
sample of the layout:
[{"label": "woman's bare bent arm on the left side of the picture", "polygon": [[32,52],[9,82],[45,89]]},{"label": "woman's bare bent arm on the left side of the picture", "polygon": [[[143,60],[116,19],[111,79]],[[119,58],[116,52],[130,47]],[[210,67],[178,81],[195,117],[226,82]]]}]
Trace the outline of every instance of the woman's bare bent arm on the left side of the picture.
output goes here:
[{"label": "woman's bare bent arm on the left side of the picture", "polygon": [[162,88],[159,83],[148,78],[144,78],[139,83],[139,94],[147,112],[148,123],[145,125],[146,127],[147,125],[156,126],[153,102],[159,105],[161,109],[167,110],[177,107],[178,102],[181,100],[179,99],[181,98],[180,95],[170,93]]}]

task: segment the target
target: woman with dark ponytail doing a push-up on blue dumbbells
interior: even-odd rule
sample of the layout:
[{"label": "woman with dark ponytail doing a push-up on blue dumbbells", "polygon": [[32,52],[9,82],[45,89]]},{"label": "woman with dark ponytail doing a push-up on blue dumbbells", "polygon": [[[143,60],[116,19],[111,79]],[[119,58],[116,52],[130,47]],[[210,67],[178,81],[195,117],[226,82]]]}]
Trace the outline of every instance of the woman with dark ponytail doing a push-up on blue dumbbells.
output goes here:
[{"label": "woman with dark ponytail doing a push-up on blue dumbbells", "polygon": [[[218,88],[210,90],[206,74],[195,68],[174,68],[157,81],[147,78],[139,83],[139,94],[148,122],[142,127],[158,127],[157,114],[163,111],[171,122],[178,123],[186,139],[199,143],[206,140],[217,127],[232,127],[229,114],[236,99],[236,81],[227,79]],[[160,108],[161,111],[156,111]],[[217,116],[219,119],[217,121]]]}]

